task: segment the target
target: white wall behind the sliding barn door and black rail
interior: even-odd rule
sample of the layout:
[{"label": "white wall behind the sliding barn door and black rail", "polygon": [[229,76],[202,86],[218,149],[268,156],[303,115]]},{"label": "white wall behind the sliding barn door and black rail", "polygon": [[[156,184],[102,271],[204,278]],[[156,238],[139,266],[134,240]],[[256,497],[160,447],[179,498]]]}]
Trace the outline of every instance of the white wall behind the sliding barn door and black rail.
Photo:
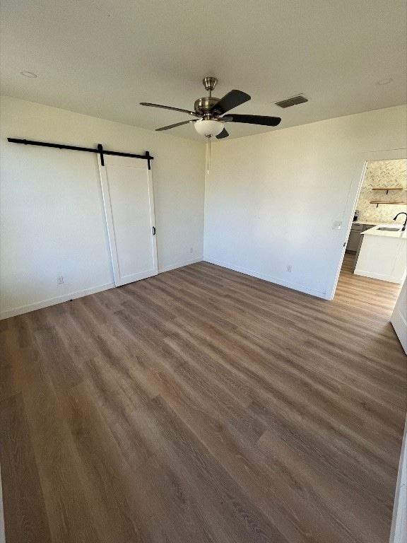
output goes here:
[{"label": "white wall behind the sliding barn door and black rail", "polygon": [[2,97],[0,317],[113,286],[96,155],[7,137],[150,151],[159,270],[202,258],[204,144]]}]

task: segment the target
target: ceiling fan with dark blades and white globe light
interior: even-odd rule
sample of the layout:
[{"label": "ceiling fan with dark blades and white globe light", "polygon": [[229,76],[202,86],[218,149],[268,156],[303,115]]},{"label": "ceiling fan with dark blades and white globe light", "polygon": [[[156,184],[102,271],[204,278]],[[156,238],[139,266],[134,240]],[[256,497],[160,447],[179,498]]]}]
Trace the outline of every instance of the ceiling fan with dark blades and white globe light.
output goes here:
[{"label": "ceiling fan with dark blades and white globe light", "polygon": [[225,94],[223,98],[214,98],[212,96],[212,91],[216,87],[218,79],[216,77],[205,77],[202,83],[204,83],[204,87],[209,95],[204,98],[198,98],[198,100],[195,101],[194,111],[182,110],[179,109],[179,107],[171,107],[169,105],[141,102],[141,105],[162,107],[164,110],[180,111],[187,113],[192,117],[198,117],[198,119],[177,122],[175,124],[170,124],[167,127],[158,128],[158,131],[180,127],[182,124],[188,124],[190,122],[194,124],[196,132],[202,136],[206,136],[206,138],[216,136],[217,139],[223,139],[229,136],[228,131],[225,129],[226,122],[245,122],[247,124],[261,124],[266,127],[276,127],[277,124],[281,122],[280,117],[268,117],[266,115],[236,115],[235,113],[232,113],[222,117],[222,115],[232,110],[234,107],[250,100],[250,96],[242,91],[233,90],[228,94]]}]

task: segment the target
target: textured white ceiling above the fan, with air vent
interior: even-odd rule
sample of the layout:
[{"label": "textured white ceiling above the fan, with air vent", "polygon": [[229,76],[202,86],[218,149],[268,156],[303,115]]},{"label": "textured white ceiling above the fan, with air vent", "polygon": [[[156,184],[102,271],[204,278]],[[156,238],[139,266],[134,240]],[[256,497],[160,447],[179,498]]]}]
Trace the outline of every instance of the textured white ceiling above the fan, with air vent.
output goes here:
[{"label": "textured white ceiling above the fan, with air vent", "polygon": [[234,112],[282,118],[230,137],[406,103],[405,0],[1,0],[1,21],[1,93],[146,129],[188,117],[139,102],[193,109],[204,76],[252,96]]}]

